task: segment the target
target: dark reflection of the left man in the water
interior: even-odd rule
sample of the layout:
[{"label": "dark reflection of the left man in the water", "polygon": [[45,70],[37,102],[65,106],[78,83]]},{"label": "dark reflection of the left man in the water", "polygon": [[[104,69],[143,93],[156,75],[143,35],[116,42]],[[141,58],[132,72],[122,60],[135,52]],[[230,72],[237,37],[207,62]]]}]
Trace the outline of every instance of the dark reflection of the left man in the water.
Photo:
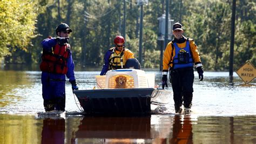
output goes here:
[{"label": "dark reflection of the left man in the water", "polygon": [[41,143],[64,143],[65,140],[65,119],[46,118],[43,120]]}]

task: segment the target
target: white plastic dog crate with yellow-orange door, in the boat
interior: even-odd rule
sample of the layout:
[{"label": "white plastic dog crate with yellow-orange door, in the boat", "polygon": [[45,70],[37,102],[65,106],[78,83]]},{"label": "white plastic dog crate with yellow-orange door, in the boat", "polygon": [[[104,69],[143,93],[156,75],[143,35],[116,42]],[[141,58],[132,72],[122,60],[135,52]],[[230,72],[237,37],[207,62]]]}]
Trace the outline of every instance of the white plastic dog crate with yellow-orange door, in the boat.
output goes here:
[{"label": "white plastic dog crate with yellow-orange door, in the boat", "polygon": [[146,74],[142,70],[135,69],[110,70],[107,71],[106,76],[96,76],[96,81],[100,89],[153,88],[154,74]]}]

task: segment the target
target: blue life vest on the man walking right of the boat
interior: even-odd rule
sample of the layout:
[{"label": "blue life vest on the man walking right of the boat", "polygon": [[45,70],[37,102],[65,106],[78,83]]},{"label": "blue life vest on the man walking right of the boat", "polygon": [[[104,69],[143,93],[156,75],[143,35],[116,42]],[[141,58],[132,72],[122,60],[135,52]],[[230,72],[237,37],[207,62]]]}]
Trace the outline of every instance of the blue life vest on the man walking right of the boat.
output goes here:
[{"label": "blue life vest on the man walking right of the boat", "polygon": [[190,51],[190,42],[186,40],[186,46],[180,48],[177,43],[173,43],[175,48],[175,56],[173,57],[173,69],[193,67],[193,59]]}]

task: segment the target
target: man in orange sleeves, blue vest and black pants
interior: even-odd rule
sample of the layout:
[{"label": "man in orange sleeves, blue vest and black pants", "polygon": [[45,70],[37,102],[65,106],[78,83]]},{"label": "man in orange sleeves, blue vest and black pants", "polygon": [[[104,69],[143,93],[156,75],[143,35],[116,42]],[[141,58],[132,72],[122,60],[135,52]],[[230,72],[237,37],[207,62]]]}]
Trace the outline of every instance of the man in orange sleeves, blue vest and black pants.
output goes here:
[{"label": "man in orange sleeves, blue vest and black pants", "polygon": [[200,60],[197,45],[193,39],[183,36],[180,23],[173,24],[174,39],[167,44],[163,58],[162,86],[167,86],[167,73],[170,69],[170,82],[173,90],[173,100],[176,113],[181,113],[184,102],[184,112],[190,113],[193,97],[194,71],[196,66],[200,81],[203,80],[203,65]]}]

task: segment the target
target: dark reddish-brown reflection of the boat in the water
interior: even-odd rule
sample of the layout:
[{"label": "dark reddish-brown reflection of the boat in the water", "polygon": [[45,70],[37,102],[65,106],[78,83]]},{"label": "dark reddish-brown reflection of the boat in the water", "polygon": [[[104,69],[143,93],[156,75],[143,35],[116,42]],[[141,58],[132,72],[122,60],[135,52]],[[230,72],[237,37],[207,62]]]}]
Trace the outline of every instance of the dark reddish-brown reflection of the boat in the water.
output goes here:
[{"label": "dark reddish-brown reflection of the boat in the water", "polygon": [[149,117],[83,118],[75,133],[76,143],[152,142]]}]

